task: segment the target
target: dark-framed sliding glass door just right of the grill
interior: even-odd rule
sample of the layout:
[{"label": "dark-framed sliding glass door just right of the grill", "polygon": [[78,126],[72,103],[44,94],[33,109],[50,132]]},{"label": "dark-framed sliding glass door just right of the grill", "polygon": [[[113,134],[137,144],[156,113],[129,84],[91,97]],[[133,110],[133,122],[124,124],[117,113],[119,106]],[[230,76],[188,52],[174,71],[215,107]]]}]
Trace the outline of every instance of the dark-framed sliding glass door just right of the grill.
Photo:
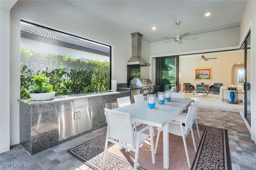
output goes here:
[{"label": "dark-framed sliding glass door just right of the grill", "polygon": [[178,56],[156,58],[156,84],[160,85],[161,92],[179,92],[178,66]]}]

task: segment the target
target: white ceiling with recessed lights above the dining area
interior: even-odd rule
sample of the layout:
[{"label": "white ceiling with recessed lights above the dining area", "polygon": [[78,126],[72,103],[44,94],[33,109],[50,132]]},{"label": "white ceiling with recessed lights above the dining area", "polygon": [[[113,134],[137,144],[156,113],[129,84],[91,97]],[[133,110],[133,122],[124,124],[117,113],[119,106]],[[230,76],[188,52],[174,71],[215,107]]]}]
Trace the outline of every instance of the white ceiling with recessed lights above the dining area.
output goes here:
[{"label": "white ceiling with recessed lights above the dining area", "polygon": [[[239,27],[246,0],[67,0],[90,14],[152,43],[162,37],[196,35]],[[211,12],[210,17],[205,17]],[[156,30],[152,31],[151,27]],[[190,36],[189,35],[189,36]]]}]

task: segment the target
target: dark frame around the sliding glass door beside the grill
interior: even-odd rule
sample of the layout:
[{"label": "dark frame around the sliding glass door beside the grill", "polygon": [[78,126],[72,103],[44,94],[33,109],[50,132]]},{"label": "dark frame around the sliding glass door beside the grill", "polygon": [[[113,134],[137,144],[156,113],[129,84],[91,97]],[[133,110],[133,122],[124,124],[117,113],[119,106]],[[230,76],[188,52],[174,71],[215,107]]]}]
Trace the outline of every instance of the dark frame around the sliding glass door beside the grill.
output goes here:
[{"label": "dark frame around the sliding glass door beside the grill", "polygon": [[160,85],[160,91],[164,92],[162,89],[162,62],[163,59],[176,59],[176,88],[175,92],[179,92],[179,56],[166,56],[166,57],[157,57],[156,58],[156,85]]}]

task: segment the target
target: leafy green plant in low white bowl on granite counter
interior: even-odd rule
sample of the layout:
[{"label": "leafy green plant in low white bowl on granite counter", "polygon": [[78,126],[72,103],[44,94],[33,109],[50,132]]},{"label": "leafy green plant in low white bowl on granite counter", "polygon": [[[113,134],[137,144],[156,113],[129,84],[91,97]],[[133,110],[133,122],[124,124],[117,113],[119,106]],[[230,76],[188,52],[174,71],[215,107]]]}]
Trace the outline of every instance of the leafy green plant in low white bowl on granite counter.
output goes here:
[{"label": "leafy green plant in low white bowl on granite counter", "polygon": [[55,96],[52,85],[49,83],[49,78],[44,73],[34,74],[32,76],[34,85],[30,90],[30,98],[32,100],[51,100]]}]

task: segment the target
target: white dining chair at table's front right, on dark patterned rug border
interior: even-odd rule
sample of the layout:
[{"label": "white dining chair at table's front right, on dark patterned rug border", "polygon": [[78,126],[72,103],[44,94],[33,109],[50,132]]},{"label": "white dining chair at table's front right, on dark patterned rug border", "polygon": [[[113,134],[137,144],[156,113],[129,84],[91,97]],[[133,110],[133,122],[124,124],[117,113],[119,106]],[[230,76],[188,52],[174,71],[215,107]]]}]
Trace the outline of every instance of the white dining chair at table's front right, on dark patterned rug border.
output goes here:
[{"label": "white dining chair at table's front right, on dark patterned rug border", "polygon": [[[169,133],[172,133],[172,134],[178,135],[178,136],[182,136],[189,168],[191,167],[191,165],[190,165],[190,161],[189,161],[188,148],[187,148],[185,138],[189,134],[189,132],[191,132],[194,149],[196,151],[197,150],[196,149],[196,143],[195,143],[194,134],[193,134],[193,130],[192,130],[193,113],[194,113],[195,108],[196,108],[196,105],[192,105],[192,106],[189,107],[188,114],[186,116],[185,126],[183,126],[181,122],[177,122],[177,121],[171,121],[169,123]],[[154,152],[155,154],[156,154],[159,135],[160,135],[161,130],[162,130],[162,128],[158,128],[158,134],[157,134],[157,138],[156,138],[156,146],[155,146],[155,152]]]}]

